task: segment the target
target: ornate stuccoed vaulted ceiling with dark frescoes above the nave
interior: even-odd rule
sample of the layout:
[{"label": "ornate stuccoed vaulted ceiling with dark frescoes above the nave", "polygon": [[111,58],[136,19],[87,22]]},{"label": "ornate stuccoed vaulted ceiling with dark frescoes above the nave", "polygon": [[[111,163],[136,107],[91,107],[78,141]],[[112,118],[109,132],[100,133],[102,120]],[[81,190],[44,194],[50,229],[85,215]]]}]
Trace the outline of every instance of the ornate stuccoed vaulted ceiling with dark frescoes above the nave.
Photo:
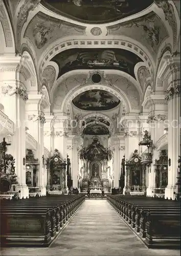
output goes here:
[{"label": "ornate stuccoed vaulted ceiling with dark frescoes above the nave", "polygon": [[[16,52],[31,55],[39,90],[47,88],[52,108],[71,105],[75,115],[81,110],[112,116],[123,106],[140,110],[160,57],[165,50],[176,51],[177,2],[4,0],[4,5]],[[94,72],[95,81],[90,79]]]}]

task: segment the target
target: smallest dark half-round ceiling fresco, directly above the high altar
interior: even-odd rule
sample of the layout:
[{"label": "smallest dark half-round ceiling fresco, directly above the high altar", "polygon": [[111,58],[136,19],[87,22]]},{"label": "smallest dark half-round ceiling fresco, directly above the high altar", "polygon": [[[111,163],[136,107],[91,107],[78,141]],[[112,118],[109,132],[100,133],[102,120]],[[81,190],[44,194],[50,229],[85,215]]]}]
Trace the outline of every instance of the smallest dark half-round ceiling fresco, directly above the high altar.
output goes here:
[{"label": "smallest dark half-round ceiling fresco, directly above the high altar", "polygon": [[89,124],[86,125],[85,129],[83,130],[84,135],[107,135],[109,134],[109,130],[107,127],[101,124]]}]

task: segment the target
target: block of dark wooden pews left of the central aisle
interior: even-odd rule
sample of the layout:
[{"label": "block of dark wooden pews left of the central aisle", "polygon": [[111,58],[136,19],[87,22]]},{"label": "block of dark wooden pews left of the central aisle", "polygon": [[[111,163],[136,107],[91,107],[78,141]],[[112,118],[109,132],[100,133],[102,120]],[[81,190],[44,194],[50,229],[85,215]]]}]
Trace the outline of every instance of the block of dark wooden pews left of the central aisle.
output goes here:
[{"label": "block of dark wooden pews left of the central aisle", "polygon": [[1,247],[48,247],[84,200],[84,195],[1,200]]}]

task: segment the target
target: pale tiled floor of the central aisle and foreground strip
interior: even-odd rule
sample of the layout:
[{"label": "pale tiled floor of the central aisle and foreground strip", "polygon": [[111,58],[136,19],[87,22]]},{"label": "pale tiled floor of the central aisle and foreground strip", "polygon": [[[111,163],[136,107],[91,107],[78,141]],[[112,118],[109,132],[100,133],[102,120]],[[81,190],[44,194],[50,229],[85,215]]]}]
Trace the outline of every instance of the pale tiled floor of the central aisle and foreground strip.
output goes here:
[{"label": "pale tiled floor of the central aisle and foreground strip", "polygon": [[49,248],[2,248],[1,255],[154,255],[179,250],[148,249],[105,200],[86,200]]}]

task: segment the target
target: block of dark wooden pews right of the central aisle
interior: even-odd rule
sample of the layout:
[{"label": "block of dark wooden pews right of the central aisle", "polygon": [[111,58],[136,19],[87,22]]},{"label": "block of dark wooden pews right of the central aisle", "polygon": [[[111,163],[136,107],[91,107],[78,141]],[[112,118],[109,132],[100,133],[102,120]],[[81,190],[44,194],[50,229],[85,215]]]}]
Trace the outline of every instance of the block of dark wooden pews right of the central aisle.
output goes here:
[{"label": "block of dark wooden pews right of the central aisle", "polygon": [[180,248],[180,203],[162,198],[107,196],[148,248]]}]

